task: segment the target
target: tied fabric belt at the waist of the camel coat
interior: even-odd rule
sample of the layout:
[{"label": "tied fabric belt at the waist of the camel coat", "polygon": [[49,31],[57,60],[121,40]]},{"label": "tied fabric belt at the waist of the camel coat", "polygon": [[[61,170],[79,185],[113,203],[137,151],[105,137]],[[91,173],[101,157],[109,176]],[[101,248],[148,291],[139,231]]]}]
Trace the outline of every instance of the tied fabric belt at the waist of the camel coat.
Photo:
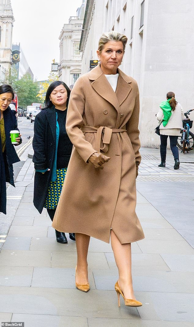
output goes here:
[{"label": "tied fabric belt at the waist of the camel coat", "polygon": [[[125,128],[125,126],[124,126]],[[83,125],[81,127],[82,132],[85,133],[96,133],[96,140],[95,140],[95,150],[100,152],[106,153],[108,151],[108,146],[110,144],[110,139],[112,136],[112,133],[123,133],[126,132],[126,129],[116,129],[116,128],[108,128],[106,126],[100,126],[99,128],[92,127],[92,126],[85,126]],[[103,147],[101,148],[101,140],[103,142]]]}]

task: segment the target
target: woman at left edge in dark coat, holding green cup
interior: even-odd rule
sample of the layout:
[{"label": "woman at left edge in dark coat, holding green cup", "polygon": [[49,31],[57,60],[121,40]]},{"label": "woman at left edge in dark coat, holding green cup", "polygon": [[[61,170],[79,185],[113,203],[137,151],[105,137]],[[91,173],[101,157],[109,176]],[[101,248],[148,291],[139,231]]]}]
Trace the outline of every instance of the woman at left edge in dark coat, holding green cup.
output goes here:
[{"label": "woman at left edge in dark coat, holding green cup", "polygon": [[[20,161],[16,150],[11,143],[10,130],[18,130],[15,111],[9,108],[14,98],[14,92],[10,85],[0,86],[0,212],[6,215],[6,182],[14,185],[13,163]],[[22,143],[21,134],[16,138],[17,145]],[[15,144],[14,144],[15,145]]]}]

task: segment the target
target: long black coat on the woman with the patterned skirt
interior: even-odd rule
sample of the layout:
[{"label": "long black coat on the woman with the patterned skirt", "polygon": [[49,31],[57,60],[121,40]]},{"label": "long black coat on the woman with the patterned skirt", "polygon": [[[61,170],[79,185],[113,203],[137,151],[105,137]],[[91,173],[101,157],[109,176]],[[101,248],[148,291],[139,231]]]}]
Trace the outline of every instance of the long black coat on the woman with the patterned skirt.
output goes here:
[{"label": "long black coat on the woman with the patterned skirt", "polygon": [[44,174],[35,172],[34,176],[33,203],[40,214],[44,208],[55,159],[56,123],[54,108],[42,110],[36,115],[34,121],[34,138],[32,141],[34,168],[38,170],[50,169],[50,171],[46,171]]}]

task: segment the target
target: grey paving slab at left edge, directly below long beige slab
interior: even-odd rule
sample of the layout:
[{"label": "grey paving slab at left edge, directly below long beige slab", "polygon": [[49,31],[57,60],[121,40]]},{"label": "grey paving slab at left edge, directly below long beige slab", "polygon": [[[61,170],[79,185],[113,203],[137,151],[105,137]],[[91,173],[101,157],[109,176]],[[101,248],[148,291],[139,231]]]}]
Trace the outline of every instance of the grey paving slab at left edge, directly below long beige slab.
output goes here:
[{"label": "grey paving slab at left edge, directly below long beige slab", "polygon": [[[6,264],[6,262],[4,263]],[[0,267],[1,286],[31,286],[33,267]],[[6,320],[5,320],[6,321]]]}]

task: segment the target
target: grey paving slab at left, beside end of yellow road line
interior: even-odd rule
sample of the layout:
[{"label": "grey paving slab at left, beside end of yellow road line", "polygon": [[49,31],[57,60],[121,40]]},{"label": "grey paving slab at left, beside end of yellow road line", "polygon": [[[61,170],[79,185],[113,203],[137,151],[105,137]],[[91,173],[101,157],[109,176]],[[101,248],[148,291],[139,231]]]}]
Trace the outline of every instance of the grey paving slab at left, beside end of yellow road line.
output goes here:
[{"label": "grey paving slab at left, beside end of yellow road line", "polygon": [[31,237],[7,236],[3,245],[4,250],[29,250]]}]

